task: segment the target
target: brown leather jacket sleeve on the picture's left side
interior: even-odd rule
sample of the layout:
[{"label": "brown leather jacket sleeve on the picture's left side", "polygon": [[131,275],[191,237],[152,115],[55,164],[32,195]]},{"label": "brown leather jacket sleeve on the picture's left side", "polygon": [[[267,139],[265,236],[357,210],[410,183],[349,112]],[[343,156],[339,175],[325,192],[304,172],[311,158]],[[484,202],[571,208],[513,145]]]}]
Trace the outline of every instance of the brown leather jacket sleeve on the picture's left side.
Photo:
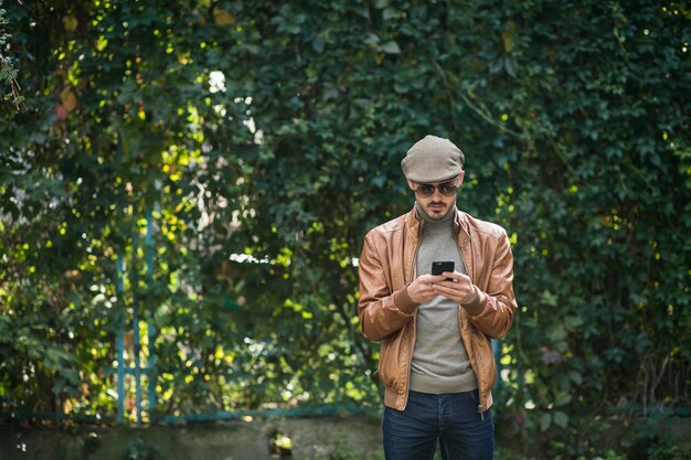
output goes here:
[{"label": "brown leather jacket sleeve on the picture's left side", "polygon": [[[408,313],[395,303],[394,298],[410,297],[401,290],[392,292],[387,282],[389,260],[379,254],[373,240],[375,237],[372,232],[368,233],[360,255],[358,318],[363,335],[379,341],[401,330],[413,318],[415,309]],[[404,289],[405,286],[402,290]],[[404,307],[410,310],[410,306]]]}]

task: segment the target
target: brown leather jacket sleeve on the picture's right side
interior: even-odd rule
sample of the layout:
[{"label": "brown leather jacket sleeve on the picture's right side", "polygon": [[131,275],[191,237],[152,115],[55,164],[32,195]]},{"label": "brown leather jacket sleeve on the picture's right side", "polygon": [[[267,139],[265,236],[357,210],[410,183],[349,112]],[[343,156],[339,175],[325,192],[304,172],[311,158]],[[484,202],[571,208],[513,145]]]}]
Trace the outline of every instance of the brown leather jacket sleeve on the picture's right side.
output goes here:
[{"label": "brown leather jacket sleeve on the picture's right side", "polygon": [[501,339],[511,329],[518,304],[513,293],[513,254],[506,232],[493,254],[488,286],[480,289],[475,302],[464,308],[472,325],[485,335]]}]

